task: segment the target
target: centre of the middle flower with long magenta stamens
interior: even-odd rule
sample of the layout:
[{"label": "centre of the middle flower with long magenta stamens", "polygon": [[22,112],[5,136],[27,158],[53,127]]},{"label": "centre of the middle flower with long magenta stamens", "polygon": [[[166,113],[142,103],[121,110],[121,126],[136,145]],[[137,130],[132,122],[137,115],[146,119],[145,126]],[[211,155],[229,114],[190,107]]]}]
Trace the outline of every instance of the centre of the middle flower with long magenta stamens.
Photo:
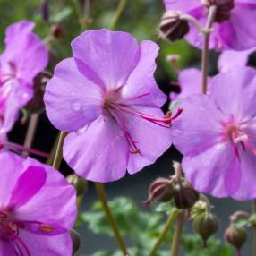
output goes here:
[{"label": "centre of the middle flower with long magenta stamens", "polygon": [[132,107],[131,102],[133,100],[149,97],[149,95],[150,93],[145,93],[134,98],[123,99],[121,91],[117,89],[107,95],[104,101],[104,110],[107,112],[107,114],[111,115],[115,119],[115,122],[120,126],[121,131],[124,134],[124,138],[130,147],[130,153],[132,154],[141,154],[141,150],[137,146],[139,142],[132,139],[130,130],[133,128],[134,124],[129,122],[126,115],[136,115],[150,123],[157,124],[165,128],[170,128],[172,121],[182,113],[182,109],[178,109],[175,115],[168,113],[168,115],[158,118],[153,115],[144,114],[143,111],[138,111]]}]

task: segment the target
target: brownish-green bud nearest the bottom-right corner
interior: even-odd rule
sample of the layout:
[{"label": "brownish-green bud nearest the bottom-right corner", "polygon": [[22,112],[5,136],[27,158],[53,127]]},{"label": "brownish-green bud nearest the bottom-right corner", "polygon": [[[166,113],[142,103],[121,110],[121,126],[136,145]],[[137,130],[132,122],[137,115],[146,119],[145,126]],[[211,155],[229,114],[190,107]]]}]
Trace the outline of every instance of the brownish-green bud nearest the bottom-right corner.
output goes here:
[{"label": "brownish-green bud nearest the bottom-right corner", "polygon": [[247,240],[247,233],[244,228],[238,228],[235,224],[231,224],[231,226],[226,229],[224,237],[227,243],[232,244],[237,251],[240,251]]}]

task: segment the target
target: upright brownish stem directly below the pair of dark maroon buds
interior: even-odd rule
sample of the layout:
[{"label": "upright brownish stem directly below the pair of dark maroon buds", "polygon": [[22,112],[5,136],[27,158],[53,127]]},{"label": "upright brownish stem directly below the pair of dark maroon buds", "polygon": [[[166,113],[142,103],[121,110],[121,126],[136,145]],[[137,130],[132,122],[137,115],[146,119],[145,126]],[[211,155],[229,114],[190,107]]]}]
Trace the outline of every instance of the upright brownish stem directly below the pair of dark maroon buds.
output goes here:
[{"label": "upright brownish stem directly below the pair of dark maroon buds", "polygon": [[183,232],[184,219],[185,219],[185,211],[182,210],[177,217],[177,223],[176,223],[176,227],[175,227],[175,235],[173,238],[173,243],[172,243],[172,248],[171,248],[172,256],[179,255],[179,247],[180,247],[180,241],[181,241],[181,236],[182,236],[182,232]]}]

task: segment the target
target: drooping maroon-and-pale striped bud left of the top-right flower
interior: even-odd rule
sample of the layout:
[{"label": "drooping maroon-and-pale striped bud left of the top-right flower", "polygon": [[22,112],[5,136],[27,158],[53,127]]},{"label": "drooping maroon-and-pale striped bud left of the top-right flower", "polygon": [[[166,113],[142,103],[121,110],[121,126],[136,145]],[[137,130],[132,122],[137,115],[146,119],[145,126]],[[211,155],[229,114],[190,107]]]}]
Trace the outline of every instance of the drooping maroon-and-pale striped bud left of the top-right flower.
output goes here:
[{"label": "drooping maroon-and-pale striped bud left of the top-right flower", "polygon": [[167,38],[170,41],[182,39],[190,30],[188,21],[181,19],[181,13],[166,11],[158,27],[160,38]]}]

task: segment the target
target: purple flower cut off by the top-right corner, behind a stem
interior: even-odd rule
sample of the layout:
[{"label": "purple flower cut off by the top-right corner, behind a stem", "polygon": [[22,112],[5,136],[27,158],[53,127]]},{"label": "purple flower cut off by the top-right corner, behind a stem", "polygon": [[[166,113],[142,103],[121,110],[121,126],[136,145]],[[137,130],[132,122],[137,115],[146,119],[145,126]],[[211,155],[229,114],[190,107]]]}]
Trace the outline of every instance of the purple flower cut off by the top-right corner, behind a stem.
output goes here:
[{"label": "purple flower cut off by the top-right corner, behind a stem", "polygon": [[[188,13],[205,25],[207,20],[207,8],[201,4],[201,0],[164,0],[166,10],[175,10]],[[204,1],[209,3],[220,3],[225,1]],[[213,26],[209,47],[217,51],[226,49],[247,50],[256,46],[255,0],[229,0],[231,10],[225,14],[224,19]],[[233,4],[232,4],[233,3]],[[218,7],[221,8],[221,7]],[[225,10],[224,6],[224,11]],[[188,42],[194,47],[202,47],[201,33],[190,25],[190,32],[186,36]]]}]

